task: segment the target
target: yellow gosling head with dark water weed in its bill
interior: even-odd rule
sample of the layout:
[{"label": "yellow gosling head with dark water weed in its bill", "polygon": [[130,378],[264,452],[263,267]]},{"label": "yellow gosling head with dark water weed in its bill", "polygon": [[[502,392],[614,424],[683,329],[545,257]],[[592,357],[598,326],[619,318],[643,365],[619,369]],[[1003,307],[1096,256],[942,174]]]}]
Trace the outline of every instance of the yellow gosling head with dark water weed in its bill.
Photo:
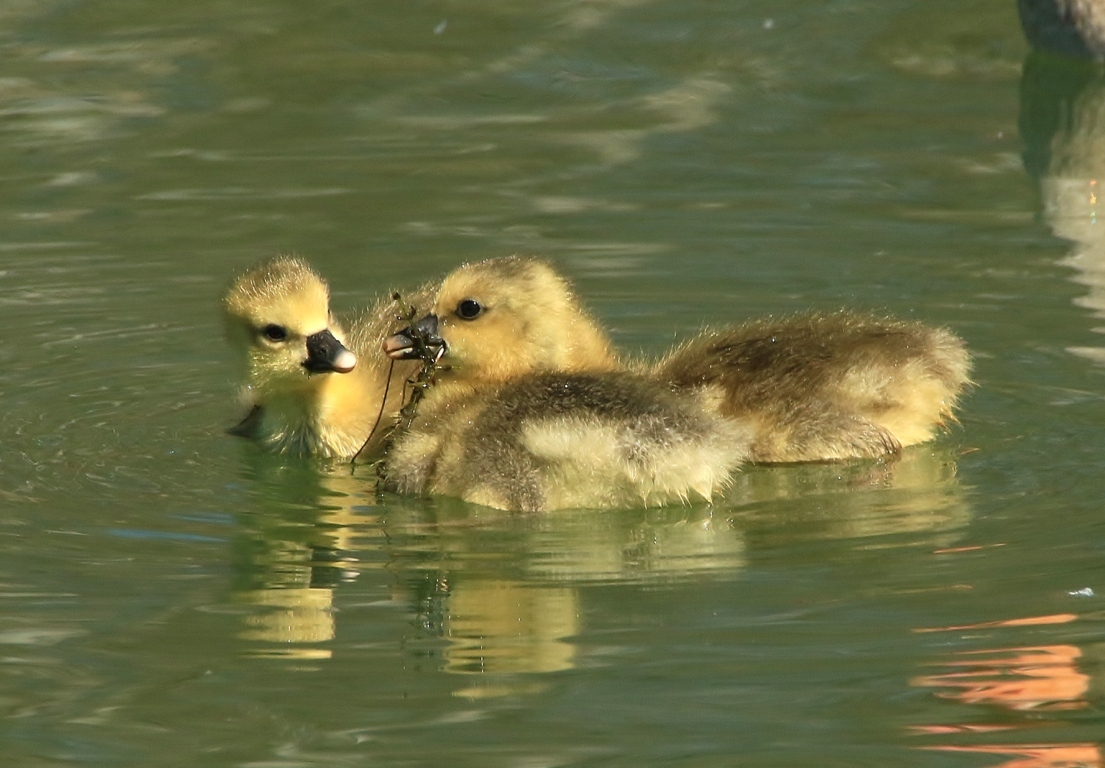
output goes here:
[{"label": "yellow gosling head with dark water weed in its bill", "polygon": [[509,256],[450,273],[433,312],[387,339],[393,359],[417,355],[415,338],[443,347],[443,375],[505,381],[533,371],[606,370],[610,341],[547,263]]}]

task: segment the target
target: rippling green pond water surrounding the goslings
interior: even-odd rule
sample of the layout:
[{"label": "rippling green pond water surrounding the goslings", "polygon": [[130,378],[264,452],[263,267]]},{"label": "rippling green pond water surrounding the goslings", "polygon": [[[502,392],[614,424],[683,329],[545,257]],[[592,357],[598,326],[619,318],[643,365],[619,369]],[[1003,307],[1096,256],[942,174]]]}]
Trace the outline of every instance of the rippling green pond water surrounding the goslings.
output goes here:
[{"label": "rippling green pond water surrounding the goslings", "polygon": [[[0,762],[1102,765],[1103,88],[1013,6],[0,9]],[[713,507],[377,499],[223,434],[280,251],[548,255],[650,354],[885,308],[978,387]]]}]

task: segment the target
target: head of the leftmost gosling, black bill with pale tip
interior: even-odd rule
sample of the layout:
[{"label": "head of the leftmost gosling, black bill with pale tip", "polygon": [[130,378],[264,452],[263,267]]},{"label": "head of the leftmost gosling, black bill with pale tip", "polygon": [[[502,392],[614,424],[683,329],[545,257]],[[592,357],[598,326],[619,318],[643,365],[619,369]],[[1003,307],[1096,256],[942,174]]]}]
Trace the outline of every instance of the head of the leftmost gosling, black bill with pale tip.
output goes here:
[{"label": "head of the leftmost gosling, black bill with pale tip", "polygon": [[222,308],[244,380],[259,397],[305,392],[357,365],[330,315],[329,287],[298,259],[257,264],[234,281]]}]

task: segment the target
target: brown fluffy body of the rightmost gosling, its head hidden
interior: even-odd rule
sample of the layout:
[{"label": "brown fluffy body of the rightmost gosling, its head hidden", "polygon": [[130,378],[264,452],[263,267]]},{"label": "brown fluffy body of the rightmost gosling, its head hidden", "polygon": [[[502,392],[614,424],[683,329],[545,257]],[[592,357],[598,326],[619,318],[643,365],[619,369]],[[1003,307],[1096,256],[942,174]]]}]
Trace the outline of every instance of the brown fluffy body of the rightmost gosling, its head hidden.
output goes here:
[{"label": "brown fluffy body of the rightmost gosling, its head hidden", "polygon": [[707,332],[655,374],[714,390],[747,420],[757,462],[877,457],[925,442],[953,418],[970,359],[941,328],[853,313]]}]

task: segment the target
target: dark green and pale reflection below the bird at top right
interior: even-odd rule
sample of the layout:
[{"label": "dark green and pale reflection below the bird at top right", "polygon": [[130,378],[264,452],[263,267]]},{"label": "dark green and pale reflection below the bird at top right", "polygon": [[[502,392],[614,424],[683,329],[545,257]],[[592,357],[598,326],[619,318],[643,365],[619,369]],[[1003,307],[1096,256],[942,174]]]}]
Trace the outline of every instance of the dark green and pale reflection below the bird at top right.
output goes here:
[{"label": "dark green and pale reflection below the bird at top right", "polygon": [[[1105,318],[1105,230],[1098,204],[1105,189],[1105,71],[1085,61],[1034,52],[1021,78],[1020,130],[1024,166],[1040,185],[1044,220],[1071,242],[1060,261],[1085,288],[1075,304]],[[1095,327],[1105,333],[1105,327]],[[1105,362],[1105,347],[1069,351]]]}]

